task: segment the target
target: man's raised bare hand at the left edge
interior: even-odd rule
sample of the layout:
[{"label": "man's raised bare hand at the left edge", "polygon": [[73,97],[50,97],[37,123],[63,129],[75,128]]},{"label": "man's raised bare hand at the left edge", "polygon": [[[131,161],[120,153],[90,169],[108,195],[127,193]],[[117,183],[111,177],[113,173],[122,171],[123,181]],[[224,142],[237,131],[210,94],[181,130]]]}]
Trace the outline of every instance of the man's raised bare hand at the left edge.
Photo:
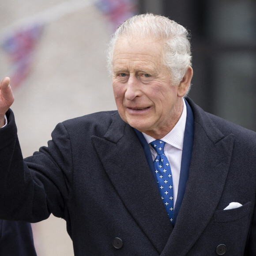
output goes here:
[{"label": "man's raised bare hand at the left edge", "polygon": [[4,115],[14,102],[10,78],[5,77],[0,83],[0,127],[4,126]]}]

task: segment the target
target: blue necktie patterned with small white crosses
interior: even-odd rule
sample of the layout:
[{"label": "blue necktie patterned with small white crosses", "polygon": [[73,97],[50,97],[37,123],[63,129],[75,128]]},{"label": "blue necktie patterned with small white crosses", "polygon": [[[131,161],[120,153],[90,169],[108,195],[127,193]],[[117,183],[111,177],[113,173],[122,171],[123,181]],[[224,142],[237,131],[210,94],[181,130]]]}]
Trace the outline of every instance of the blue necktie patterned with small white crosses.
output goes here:
[{"label": "blue necktie patterned with small white crosses", "polygon": [[170,221],[173,222],[173,177],[169,161],[164,154],[165,142],[157,139],[150,144],[157,152],[157,156],[154,159],[154,169],[160,195],[162,196]]}]

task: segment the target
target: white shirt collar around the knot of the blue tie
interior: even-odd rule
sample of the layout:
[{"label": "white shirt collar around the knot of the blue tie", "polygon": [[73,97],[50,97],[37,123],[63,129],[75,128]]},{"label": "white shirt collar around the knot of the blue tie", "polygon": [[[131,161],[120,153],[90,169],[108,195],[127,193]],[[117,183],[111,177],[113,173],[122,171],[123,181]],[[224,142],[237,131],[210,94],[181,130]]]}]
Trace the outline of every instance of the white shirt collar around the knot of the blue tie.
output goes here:
[{"label": "white shirt collar around the knot of the blue tie", "polygon": [[[184,132],[186,126],[186,118],[187,118],[187,107],[183,98],[183,110],[181,113],[181,117],[178,120],[177,124],[173,127],[173,129],[166,134],[161,140],[165,143],[176,147],[177,149],[183,149],[183,141],[184,141]],[[155,139],[146,133],[142,132],[144,138],[147,140],[147,143],[151,143]],[[167,145],[166,145],[167,146]]]}]

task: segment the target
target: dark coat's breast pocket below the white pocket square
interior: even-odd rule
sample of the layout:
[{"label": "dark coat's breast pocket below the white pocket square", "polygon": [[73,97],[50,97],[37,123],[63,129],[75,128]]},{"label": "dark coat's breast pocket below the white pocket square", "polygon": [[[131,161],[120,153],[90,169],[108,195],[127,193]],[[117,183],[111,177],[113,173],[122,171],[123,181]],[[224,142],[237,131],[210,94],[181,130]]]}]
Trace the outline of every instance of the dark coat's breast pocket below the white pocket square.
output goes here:
[{"label": "dark coat's breast pocket below the white pocket square", "polygon": [[251,211],[251,202],[245,203],[243,206],[230,209],[215,211],[214,222],[232,222],[244,218]]}]

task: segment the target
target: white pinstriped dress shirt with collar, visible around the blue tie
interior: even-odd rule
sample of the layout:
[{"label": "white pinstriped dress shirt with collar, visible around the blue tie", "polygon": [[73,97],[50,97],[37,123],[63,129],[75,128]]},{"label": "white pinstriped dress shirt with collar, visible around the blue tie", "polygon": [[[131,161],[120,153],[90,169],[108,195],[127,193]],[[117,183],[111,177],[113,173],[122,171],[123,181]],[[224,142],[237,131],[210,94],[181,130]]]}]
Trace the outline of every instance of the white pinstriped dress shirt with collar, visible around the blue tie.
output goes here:
[{"label": "white pinstriped dress shirt with collar, visible around the blue tie", "polygon": [[[181,156],[182,156],[182,149],[183,149],[183,141],[184,141],[184,132],[185,132],[185,125],[186,125],[186,118],[187,118],[187,107],[185,101],[183,99],[183,110],[180,119],[178,120],[177,124],[173,127],[173,129],[166,134],[162,141],[164,141],[165,147],[164,152],[166,157],[169,160],[172,176],[173,176],[173,200],[174,200],[174,207],[177,200],[178,194],[178,187],[179,187],[179,180],[180,180],[180,173],[181,173]],[[151,143],[155,139],[145,133],[142,133],[144,138],[147,140],[147,143]],[[157,152],[149,146],[152,154],[153,161],[157,156]]]}]

